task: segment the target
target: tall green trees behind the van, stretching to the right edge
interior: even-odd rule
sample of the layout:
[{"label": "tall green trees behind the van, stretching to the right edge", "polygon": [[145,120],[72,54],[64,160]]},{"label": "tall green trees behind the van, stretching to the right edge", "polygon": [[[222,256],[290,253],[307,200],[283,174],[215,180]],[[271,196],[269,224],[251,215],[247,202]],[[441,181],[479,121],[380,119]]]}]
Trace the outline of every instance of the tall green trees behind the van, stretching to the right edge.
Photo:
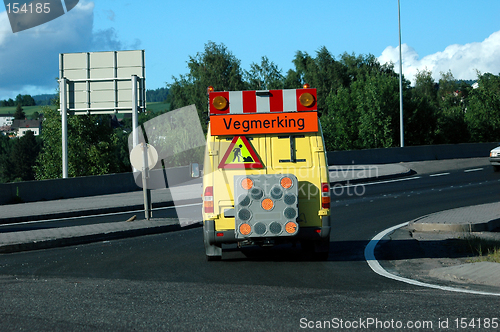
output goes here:
[{"label": "tall green trees behind the van, stretching to the right edge", "polygon": [[[318,108],[329,151],[395,147],[399,138],[399,75],[393,64],[374,55],[344,53],[335,58],[326,47],[315,55],[298,51],[294,69],[283,73],[267,57],[243,70],[223,44],[209,42],[188,60],[189,72],[173,77],[168,101],[173,109],[196,104],[207,122],[206,88],[216,91],[295,89],[304,83],[318,90]],[[403,80],[405,145],[500,140],[500,76],[477,73],[477,87],[449,71],[434,82],[422,70],[415,86]],[[205,127],[206,129],[206,127]]]}]

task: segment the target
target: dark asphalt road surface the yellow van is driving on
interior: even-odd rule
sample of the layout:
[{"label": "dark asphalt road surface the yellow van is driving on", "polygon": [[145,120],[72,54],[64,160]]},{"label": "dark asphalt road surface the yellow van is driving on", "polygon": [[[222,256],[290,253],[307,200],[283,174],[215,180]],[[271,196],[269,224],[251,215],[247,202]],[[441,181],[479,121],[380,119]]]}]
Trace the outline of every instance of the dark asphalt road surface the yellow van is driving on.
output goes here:
[{"label": "dark asphalt road surface the yellow van is driving on", "polygon": [[0,330],[498,330],[498,297],[386,279],[363,255],[393,225],[499,201],[500,174],[483,164],[364,184],[359,196],[333,188],[327,262],[281,246],[227,248],[209,263],[199,228],[0,255]]}]

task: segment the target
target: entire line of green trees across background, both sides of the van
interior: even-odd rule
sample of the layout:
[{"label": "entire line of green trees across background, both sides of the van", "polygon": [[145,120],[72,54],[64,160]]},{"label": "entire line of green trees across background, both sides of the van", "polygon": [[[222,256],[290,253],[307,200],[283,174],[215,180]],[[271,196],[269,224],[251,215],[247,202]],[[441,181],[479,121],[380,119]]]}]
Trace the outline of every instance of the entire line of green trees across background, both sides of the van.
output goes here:
[{"label": "entire line of green trees across background, both sides of the van", "polygon": [[[208,86],[239,91],[295,89],[308,83],[318,90],[328,151],[400,144],[399,76],[392,64],[380,64],[371,54],[334,57],[326,47],[315,55],[298,51],[294,68],[283,73],[265,56],[244,70],[224,44],[209,42],[187,64],[188,73],[172,77],[166,88],[149,90],[148,101],[166,101],[169,111],[195,104],[204,130]],[[432,72],[419,71],[414,86],[403,80],[405,145],[500,141],[500,75],[478,72],[474,87],[451,72],[440,75],[435,82]],[[163,112],[141,113],[139,123]],[[43,113],[40,138],[26,135],[9,141],[1,137],[0,181],[62,176],[60,115],[49,107]],[[127,143],[131,120],[124,119],[115,128],[111,123],[109,115],[68,117],[69,176],[131,170]]]}]

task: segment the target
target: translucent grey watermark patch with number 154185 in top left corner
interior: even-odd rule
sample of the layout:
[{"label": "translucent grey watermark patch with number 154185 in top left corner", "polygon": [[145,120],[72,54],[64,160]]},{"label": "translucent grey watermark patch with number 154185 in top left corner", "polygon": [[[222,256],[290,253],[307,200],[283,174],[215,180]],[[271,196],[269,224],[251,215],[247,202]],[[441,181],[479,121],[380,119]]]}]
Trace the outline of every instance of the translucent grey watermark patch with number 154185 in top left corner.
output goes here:
[{"label": "translucent grey watermark patch with number 154185 in top left corner", "polygon": [[13,33],[52,21],[75,8],[78,2],[79,0],[4,0]]}]

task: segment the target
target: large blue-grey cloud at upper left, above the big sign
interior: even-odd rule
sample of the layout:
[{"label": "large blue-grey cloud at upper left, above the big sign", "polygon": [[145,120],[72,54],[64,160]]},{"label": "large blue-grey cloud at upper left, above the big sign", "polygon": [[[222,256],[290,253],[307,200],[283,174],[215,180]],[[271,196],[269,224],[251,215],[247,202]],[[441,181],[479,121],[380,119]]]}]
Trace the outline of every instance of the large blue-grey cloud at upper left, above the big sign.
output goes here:
[{"label": "large blue-grey cloud at upper left, above the big sign", "polygon": [[93,25],[94,3],[86,1],[55,20],[17,33],[12,33],[6,12],[0,13],[0,99],[54,93],[59,53],[124,49],[114,29],[93,31]]}]

